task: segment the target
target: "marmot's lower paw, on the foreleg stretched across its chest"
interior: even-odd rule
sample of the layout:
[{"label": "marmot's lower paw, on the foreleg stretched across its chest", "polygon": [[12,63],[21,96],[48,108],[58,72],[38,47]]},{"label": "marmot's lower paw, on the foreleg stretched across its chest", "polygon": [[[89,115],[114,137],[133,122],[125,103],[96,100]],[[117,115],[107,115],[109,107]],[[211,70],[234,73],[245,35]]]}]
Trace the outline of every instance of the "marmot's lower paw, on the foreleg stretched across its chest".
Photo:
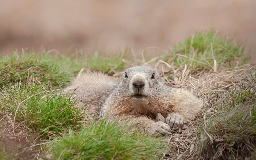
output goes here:
[{"label": "marmot's lower paw, on the foreleg stretched across its chest", "polygon": [[171,131],[170,127],[162,121],[158,121],[152,124],[151,134],[157,135],[157,137],[170,134],[170,131]]}]

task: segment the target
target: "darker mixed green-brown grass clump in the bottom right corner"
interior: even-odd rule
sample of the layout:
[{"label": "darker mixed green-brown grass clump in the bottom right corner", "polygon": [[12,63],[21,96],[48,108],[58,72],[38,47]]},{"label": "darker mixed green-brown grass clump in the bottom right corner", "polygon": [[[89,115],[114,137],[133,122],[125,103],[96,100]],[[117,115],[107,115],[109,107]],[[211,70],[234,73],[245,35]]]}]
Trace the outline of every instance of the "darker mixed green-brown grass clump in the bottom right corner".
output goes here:
[{"label": "darker mixed green-brown grass clump in the bottom right corner", "polygon": [[[215,115],[206,116],[199,129],[201,155],[205,158],[228,159],[230,155],[245,158],[256,146],[256,99],[255,90],[226,91],[223,103],[214,105]],[[248,147],[250,146],[250,147]]]}]

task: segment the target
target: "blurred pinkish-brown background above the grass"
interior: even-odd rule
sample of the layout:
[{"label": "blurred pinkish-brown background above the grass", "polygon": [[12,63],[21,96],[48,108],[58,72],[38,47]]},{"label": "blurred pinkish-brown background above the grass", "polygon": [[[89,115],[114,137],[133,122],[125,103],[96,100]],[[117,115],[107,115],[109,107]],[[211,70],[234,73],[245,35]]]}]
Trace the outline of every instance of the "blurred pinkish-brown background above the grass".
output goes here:
[{"label": "blurred pinkish-brown background above the grass", "polygon": [[168,49],[189,35],[216,28],[256,59],[254,0],[35,1],[0,0],[0,53],[15,49],[102,53],[132,47]]}]

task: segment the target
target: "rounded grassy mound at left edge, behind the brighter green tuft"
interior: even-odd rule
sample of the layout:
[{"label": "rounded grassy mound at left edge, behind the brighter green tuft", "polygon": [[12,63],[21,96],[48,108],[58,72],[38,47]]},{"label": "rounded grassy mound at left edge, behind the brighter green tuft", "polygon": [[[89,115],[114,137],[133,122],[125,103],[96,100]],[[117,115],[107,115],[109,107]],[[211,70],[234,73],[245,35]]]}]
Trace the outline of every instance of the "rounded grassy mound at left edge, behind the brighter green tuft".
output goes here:
[{"label": "rounded grassy mound at left edge, behind the brighter green tuft", "polygon": [[0,86],[28,81],[31,77],[39,81],[50,81],[51,87],[66,85],[72,73],[56,63],[54,56],[36,53],[14,53],[0,58]]}]

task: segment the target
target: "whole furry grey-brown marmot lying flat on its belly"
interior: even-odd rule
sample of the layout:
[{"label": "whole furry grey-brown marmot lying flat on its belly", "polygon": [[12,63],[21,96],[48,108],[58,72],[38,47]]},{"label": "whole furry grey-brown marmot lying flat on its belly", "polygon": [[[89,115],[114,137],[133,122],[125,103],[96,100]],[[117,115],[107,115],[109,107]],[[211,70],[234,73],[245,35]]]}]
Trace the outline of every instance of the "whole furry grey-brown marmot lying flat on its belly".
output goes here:
[{"label": "whole furry grey-brown marmot lying flat on its belly", "polygon": [[[143,129],[148,134],[166,135],[194,118],[203,106],[200,98],[183,88],[173,88],[160,80],[157,70],[136,66],[124,71],[116,81],[102,73],[87,72],[74,79],[65,93],[73,93],[87,112],[121,120]],[[157,113],[166,123],[156,122]]]}]

